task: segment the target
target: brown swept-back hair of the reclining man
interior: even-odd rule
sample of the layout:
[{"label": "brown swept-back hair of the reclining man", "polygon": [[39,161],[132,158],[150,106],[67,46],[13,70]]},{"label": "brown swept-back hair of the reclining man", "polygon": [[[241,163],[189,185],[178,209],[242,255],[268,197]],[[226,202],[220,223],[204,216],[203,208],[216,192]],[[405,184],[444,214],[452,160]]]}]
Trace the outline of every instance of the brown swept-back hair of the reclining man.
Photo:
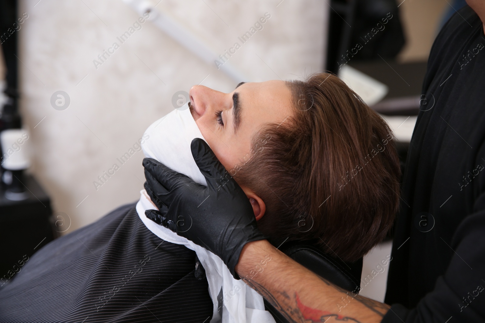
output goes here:
[{"label": "brown swept-back hair of the reclining man", "polygon": [[261,129],[233,176],[265,202],[258,226],[273,245],[314,240],[356,261],[384,239],[397,212],[392,132],[332,74],[286,84],[294,116]]}]

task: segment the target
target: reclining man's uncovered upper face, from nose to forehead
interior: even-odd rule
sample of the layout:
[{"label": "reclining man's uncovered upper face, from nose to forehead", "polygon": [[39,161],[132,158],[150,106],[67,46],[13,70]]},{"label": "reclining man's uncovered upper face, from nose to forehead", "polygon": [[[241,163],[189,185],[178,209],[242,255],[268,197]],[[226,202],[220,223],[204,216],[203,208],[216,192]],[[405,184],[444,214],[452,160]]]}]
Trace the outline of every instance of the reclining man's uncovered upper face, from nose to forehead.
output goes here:
[{"label": "reclining man's uncovered upper face, from nose to forehead", "polygon": [[279,80],[243,83],[230,93],[196,85],[190,100],[195,123],[229,171],[250,156],[251,139],[262,126],[293,115],[291,92]]}]

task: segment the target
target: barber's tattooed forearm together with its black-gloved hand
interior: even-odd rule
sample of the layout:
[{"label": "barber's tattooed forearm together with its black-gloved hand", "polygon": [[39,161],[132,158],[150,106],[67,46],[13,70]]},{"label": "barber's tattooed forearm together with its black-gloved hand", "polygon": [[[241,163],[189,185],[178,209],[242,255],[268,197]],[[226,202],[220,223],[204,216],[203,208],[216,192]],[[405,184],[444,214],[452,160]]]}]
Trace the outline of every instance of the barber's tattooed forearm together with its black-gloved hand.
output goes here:
[{"label": "barber's tattooed forearm together with its black-gloved hand", "polygon": [[[265,240],[249,200],[209,146],[194,139],[191,148],[207,187],[154,159],[144,159],[145,188],[160,209],[146,211],[149,218],[218,255],[234,277],[258,291],[290,322],[381,322],[387,305],[342,290]],[[186,215],[191,217],[189,230],[187,221],[177,225]]]}]

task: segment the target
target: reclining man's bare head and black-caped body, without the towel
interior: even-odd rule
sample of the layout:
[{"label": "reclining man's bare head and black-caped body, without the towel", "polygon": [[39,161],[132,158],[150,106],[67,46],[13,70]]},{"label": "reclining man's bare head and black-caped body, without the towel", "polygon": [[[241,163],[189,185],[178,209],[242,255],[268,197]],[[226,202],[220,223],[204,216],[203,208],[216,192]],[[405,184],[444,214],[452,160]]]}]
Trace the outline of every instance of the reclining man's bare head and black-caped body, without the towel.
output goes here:
[{"label": "reclining man's bare head and black-caped body, without the towel", "polygon": [[[338,77],[190,95],[200,132],[273,244],[311,240],[356,261],[384,238],[398,206],[393,137]],[[207,289],[195,253],[158,238],[128,205],[32,256],[0,288],[0,321],[203,322]]]}]

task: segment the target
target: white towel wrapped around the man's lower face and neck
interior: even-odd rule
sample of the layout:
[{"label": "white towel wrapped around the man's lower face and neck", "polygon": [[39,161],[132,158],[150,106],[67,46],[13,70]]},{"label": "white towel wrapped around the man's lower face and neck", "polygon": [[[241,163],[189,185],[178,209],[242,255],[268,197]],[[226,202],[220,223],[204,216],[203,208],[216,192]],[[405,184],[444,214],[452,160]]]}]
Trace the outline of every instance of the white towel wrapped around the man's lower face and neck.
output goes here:
[{"label": "white towel wrapped around the man's lower face and neck", "polygon": [[[186,174],[195,182],[207,185],[190,150],[192,139],[203,137],[187,105],[151,124],[146,130],[144,138],[147,139],[142,144],[142,148],[146,157],[154,158],[167,167]],[[136,204],[136,211],[146,228],[161,239],[173,244],[184,245],[197,254],[206,271],[209,283],[209,294],[213,303],[211,323],[221,321],[223,323],[275,322],[271,314],[264,310],[262,296],[244,284],[242,280],[234,279],[221,258],[148,219],[145,211],[156,209],[156,207],[145,190],[140,193],[141,197]],[[222,317],[217,300],[221,289],[223,295]]]}]

